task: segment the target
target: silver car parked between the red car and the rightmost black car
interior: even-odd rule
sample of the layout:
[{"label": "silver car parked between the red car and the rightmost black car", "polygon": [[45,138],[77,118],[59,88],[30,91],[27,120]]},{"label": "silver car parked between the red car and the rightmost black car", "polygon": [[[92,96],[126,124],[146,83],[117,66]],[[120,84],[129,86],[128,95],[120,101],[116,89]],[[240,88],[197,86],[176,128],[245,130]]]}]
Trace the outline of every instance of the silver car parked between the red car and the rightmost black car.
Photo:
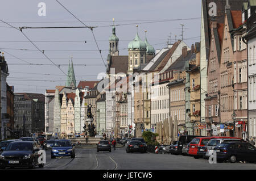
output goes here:
[{"label": "silver car parked between the red car and the rightmost black car", "polygon": [[241,138],[213,138],[210,139],[206,146],[207,152],[205,153],[205,158],[209,158],[213,154],[213,149],[215,146],[221,144],[222,142],[240,141]]}]

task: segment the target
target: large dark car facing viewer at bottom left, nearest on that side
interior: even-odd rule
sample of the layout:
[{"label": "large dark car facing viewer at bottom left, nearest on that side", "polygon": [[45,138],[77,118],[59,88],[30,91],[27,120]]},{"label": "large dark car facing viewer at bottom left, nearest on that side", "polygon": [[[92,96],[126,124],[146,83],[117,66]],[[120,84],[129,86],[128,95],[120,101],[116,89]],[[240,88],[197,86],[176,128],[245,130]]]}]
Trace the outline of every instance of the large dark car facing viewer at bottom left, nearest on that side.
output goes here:
[{"label": "large dark car facing viewer at bottom left, nearest on that side", "polygon": [[14,141],[11,142],[0,155],[0,168],[6,167],[29,167],[33,169],[38,163],[38,145],[34,141]]}]

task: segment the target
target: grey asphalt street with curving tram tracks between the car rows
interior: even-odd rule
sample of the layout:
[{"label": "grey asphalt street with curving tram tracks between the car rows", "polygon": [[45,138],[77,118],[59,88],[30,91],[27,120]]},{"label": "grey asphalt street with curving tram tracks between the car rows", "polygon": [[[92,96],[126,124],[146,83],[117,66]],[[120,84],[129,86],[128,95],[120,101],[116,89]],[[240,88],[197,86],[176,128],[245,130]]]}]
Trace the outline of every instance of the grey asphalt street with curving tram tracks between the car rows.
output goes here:
[{"label": "grey asphalt street with curving tram tracks between the car rows", "polygon": [[153,153],[126,153],[125,148],[117,148],[115,151],[100,151],[96,148],[76,148],[76,157],[57,157],[51,159],[47,150],[46,164],[36,170],[255,170],[256,163],[216,163],[210,164],[206,159],[171,154]]}]

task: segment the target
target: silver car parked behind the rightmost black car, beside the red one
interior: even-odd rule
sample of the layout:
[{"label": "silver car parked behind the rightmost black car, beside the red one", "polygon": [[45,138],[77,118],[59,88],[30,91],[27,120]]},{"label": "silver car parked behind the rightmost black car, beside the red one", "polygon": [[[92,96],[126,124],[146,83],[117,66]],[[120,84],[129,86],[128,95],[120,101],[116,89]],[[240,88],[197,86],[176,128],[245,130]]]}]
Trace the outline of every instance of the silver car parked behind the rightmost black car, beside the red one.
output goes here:
[{"label": "silver car parked behind the rightmost black car, beside the red one", "polygon": [[[242,141],[241,138],[236,138],[236,137],[210,137],[210,141],[208,142],[205,148],[205,158],[209,158],[210,155],[212,155],[213,153],[213,149],[215,146],[217,146],[218,144],[221,144],[222,142],[230,142],[230,141]],[[203,151],[204,148],[202,148],[201,150]]]}]

